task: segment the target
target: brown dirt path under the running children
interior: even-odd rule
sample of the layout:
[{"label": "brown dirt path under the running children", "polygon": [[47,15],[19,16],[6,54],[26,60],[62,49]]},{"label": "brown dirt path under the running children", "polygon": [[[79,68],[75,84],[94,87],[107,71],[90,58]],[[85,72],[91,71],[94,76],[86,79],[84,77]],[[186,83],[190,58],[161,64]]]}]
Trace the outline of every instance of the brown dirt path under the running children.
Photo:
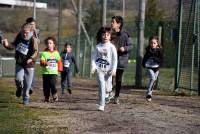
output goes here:
[{"label": "brown dirt path under the running children", "polygon": [[78,80],[72,95],[59,92],[59,101],[48,104],[42,102],[41,83],[37,84],[30,107],[56,111],[56,116],[40,118],[48,134],[66,130],[72,134],[200,134],[199,97],[156,95],[147,103],[145,91],[126,89],[119,105],[108,104],[100,112],[95,105],[95,81]]}]

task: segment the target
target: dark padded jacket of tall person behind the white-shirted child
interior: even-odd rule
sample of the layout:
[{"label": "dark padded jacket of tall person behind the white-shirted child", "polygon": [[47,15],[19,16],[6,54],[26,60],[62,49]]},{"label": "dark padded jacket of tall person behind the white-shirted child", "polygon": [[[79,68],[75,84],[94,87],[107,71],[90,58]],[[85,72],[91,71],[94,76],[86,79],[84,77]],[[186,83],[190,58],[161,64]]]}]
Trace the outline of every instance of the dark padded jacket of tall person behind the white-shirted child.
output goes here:
[{"label": "dark padded jacket of tall person behind the white-shirted child", "polygon": [[[128,66],[128,58],[130,55],[130,51],[133,48],[133,45],[130,40],[130,36],[125,31],[120,31],[116,33],[116,39],[114,41],[117,47],[117,55],[118,55],[118,69],[124,69]],[[120,52],[120,47],[124,47],[125,51]]]}]

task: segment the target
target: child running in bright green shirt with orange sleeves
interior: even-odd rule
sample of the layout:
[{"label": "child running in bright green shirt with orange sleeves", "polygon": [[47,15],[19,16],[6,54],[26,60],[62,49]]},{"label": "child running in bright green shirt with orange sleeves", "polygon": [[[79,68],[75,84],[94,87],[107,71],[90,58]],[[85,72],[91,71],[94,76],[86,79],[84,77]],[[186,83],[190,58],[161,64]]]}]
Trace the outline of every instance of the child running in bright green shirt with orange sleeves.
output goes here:
[{"label": "child running in bright green shirt with orange sleeves", "polygon": [[43,74],[44,102],[50,101],[50,92],[54,101],[58,101],[56,83],[58,71],[61,72],[62,60],[56,49],[56,40],[53,37],[45,39],[46,49],[40,55],[40,65]]}]

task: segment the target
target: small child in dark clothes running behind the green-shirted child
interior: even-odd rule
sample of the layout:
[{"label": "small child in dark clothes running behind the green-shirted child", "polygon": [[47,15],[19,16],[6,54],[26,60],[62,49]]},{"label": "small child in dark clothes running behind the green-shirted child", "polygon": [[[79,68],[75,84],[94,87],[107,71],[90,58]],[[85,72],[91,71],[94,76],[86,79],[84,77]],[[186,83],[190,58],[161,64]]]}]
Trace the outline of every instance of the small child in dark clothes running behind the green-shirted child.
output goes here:
[{"label": "small child in dark clothes running behind the green-shirted child", "polygon": [[79,73],[79,69],[76,60],[72,54],[72,45],[70,43],[65,43],[64,49],[61,52],[61,58],[63,63],[63,71],[61,72],[61,89],[62,94],[65,93],[65,89],[69,94],[72,94],[71,87],[71,77],[72,77],[72,64],[75,65],[76,73]]}]

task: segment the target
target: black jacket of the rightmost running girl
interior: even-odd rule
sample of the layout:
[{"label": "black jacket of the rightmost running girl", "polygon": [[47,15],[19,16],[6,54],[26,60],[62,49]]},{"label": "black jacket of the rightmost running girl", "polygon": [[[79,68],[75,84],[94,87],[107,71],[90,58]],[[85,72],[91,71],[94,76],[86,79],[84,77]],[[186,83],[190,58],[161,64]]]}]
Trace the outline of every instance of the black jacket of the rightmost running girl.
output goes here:
[{"label": "black jacket of the rightmost running girl", "polygon": [[152,49],[150,47],[146,48],[146,53],[144,55],[144,58],[142,60],[142,66],[144,68],[151,68],[151,67],[146,67],[146,62],[151,59],[151,61],[155,64],[158,64],[159,66],[154,68],[154,70],[158,70],[159,67],[162,65],[163,62],[163,52],[161,48],[155,48]]}]

